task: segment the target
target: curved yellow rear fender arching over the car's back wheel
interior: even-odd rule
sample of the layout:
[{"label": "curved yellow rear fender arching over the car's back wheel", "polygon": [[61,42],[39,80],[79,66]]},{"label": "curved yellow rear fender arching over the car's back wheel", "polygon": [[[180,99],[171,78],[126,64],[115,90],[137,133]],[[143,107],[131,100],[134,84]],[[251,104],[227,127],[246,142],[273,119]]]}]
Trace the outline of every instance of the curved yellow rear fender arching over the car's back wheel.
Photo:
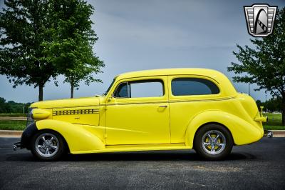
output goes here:
[{"label": "curved yellow rear fender arching over the car's back wheel", "polygon": [[224,111],[204,111],[192,119],[185,133],[186,146],[193,147],[193,141],[196,131],[200,126],[207,123],[219,123],[227,127],[232,133],[234,144],[250,144],[259,141],[262,138],[264,131],[259,126],[250,124],[238,116],[229,114]]}]

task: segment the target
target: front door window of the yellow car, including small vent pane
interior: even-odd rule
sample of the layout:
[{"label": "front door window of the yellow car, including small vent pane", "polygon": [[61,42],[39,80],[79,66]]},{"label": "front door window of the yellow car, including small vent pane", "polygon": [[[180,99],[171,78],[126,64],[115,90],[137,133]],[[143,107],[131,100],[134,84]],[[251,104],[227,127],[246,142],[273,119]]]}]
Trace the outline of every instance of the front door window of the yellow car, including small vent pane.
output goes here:
[{"label": "front door window of the yellow car, including small vent pane", "polygon": [[115,98],[160,97],[164,95],[163,81],[143,80],[119,84],[113,96]]}]

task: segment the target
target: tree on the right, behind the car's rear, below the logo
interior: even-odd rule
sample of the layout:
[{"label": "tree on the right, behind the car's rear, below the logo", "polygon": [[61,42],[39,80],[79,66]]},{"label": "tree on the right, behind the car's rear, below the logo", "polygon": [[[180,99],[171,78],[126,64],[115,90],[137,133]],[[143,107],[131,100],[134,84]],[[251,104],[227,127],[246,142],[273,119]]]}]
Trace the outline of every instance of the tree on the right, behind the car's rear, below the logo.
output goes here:
[{"label": "tree on the right, behind the car's rear, below the logo", "polygon": [[285,8],[276,14],[274,31],[264,38],[251,39],[255,48],[239,46],[233,52],[241,64],[232,62],[235,82],[257,84],[255,91],[265,89],[281,98],[282,125],[285,125]]}]

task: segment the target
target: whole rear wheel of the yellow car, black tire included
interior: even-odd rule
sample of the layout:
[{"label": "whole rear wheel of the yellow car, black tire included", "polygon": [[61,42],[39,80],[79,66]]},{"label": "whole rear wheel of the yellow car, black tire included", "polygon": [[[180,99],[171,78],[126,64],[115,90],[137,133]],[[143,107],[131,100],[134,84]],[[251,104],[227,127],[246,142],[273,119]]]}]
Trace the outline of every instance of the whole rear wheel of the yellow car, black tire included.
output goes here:
[{"label": "whole rear wheel of the yellow car, black tire included", "polygon": [[[211,136],[211,139],[208,135]],[[199,156],[209,161],[224,159],[231,153],[233,145],[232,134],[227,128],[219,124],[207,124],[202,126],[195,134],[195,151]]]}]

